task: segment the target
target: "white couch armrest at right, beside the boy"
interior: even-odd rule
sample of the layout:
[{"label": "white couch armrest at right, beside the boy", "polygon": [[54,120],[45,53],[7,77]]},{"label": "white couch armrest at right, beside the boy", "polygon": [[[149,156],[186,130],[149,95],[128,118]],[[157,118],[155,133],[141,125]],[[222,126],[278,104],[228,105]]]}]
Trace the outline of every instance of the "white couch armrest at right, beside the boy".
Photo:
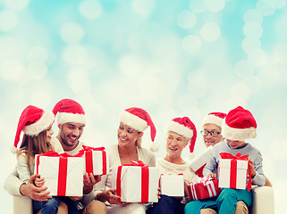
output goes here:
[{"label": "white couch armrest at right, beside the boy", "polygon": [[274,191],[270,186],[254,186],[251,214],[274,214]]}]

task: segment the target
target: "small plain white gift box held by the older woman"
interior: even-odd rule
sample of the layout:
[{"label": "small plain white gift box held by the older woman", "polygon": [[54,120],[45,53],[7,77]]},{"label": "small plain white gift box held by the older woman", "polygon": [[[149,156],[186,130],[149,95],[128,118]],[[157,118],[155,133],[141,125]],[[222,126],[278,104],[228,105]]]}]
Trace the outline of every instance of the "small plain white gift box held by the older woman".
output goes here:
[{"label": "small plain white gift box held by the older woman", "polygon": [[159,186],[161,193],[173,196],[183,197],[184,196],[184,179],[183,174],[179,175],[161,175],[159,179]]}]

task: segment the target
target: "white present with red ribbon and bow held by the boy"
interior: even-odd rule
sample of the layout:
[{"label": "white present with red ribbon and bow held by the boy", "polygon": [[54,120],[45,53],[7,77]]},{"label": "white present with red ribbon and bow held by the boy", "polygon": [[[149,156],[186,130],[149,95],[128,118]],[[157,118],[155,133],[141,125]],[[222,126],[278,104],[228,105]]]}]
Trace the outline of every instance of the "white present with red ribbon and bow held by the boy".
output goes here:
[{"label": "white present with red ribbon and bow held by the boy", "polygon": [[232,189],[251,188],[251,177],[247,185],[248,174],[251,175],[248,156],[241,156],[241,153],[233,156],[230,153],[220,153],[222,159],[218,165],[219,187]]}]

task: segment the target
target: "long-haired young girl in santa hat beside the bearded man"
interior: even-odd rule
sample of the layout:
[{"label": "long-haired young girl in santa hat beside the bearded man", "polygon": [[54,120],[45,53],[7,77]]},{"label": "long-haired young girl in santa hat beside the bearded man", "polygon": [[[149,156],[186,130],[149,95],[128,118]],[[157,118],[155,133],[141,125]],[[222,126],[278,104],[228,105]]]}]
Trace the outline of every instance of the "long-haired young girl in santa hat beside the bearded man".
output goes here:
[{"label": "long-haired young girl in santa hat beside the bearded man", "polygon": [[[17,144],[20,141],[21,131],[24,132],[21,146],[17,152],[17,172],[23,182],[27,182],[34,174],[34,157],[36,154],[48,151],[63,152],[58,141],[50,144],[54,134],[52,126],[55,116],[51,111],[43,111],[38,107],[29,105],[19,119],[14,141],[13,151],[17,152]],[[44,185],[44,178],[36,178],[35,185]],[[61,202],[59,197],[52,197],[47,202],[33,201],[33,210],[41,210],[42,214],[56,213]]]}]

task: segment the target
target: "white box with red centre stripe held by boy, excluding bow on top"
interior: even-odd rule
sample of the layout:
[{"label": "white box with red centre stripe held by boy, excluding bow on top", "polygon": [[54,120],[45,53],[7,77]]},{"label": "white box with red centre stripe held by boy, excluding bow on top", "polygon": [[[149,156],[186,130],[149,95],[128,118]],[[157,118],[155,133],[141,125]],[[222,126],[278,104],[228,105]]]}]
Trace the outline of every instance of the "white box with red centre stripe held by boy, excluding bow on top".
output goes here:
[{"label": "white box with red centre stripe held by boy, excluding bow on top", "polygon": [[249,161],[221,159],[218,167],[221,188],[245,189]]}]

